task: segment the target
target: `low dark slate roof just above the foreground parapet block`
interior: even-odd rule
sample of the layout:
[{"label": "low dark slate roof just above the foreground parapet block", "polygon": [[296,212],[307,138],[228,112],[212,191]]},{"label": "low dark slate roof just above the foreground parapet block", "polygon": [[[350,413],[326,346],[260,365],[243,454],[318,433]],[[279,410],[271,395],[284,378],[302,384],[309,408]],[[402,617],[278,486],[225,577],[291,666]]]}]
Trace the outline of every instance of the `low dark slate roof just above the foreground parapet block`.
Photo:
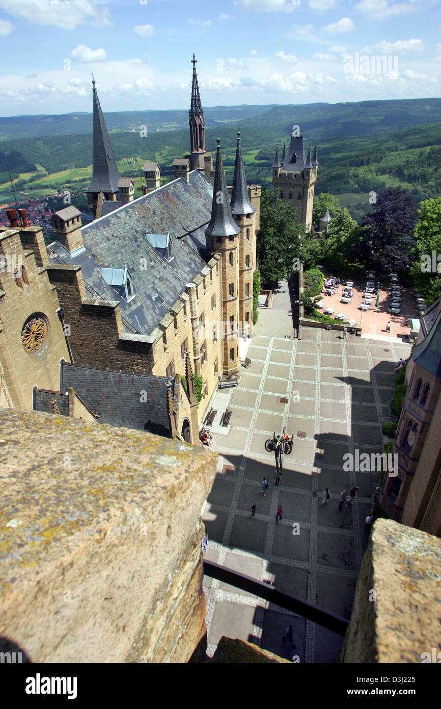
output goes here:
[{"label": "low dark slate roof just above the foreground parapet block", "polygon": [[[98,423],[146,430],[170,437],[166,376],[128,374],[115,369],[84,367],[61,363],[61,388],[72,386],[82,401],[100,418]],[[140,402],[140,392],[147,392],[147,401]]]}]

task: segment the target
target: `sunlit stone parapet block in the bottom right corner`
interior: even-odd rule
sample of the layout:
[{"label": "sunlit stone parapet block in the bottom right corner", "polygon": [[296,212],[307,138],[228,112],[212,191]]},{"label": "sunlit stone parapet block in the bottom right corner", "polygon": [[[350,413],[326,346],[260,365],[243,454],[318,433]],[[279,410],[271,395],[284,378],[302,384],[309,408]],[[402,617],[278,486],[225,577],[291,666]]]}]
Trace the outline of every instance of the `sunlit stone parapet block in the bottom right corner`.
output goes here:
[{"label": "sunlit stone parapet block in the bottom right corner", "polygon": [[377,520],[358,576],[340,662],[421,662],[427,658],[423,653],[439,652],[440,569],[438,537]]}]

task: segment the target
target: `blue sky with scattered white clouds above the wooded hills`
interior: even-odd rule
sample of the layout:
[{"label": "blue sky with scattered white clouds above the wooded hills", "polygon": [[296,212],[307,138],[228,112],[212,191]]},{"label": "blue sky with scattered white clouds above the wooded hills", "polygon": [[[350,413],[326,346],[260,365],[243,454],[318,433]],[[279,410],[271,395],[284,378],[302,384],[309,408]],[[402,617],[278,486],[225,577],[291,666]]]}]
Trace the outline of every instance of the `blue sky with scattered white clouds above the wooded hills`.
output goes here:
[{"label": "blue sky with scattered white clouds above the wooded hills", "polygon": [[[441,95],[441,0],[0,0],[2,116]],[[380,60],[379,57],[384,57]]]}]

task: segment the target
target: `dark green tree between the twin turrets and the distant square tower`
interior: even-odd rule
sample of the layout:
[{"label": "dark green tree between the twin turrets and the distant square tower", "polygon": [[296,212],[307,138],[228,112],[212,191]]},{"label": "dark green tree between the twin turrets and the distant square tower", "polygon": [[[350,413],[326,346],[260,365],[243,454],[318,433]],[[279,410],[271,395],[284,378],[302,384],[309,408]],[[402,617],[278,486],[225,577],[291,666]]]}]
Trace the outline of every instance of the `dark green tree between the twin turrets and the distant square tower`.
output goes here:
[{"label": "dark green tree between the twin turrets and the distant square tower", "polygon": [[274,192],[262,190],[257,253],[260,278],[268,286],[292,273],[294,258],[302,257],[304,225],[295,223],[296,216],[297,208],[282,202]]}]

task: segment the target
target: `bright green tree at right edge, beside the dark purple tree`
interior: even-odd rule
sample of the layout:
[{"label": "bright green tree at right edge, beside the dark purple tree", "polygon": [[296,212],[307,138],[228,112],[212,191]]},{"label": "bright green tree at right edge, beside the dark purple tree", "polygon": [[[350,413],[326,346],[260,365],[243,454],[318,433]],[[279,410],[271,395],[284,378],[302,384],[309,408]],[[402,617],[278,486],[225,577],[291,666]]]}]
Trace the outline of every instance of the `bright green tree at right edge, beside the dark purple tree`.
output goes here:
[{"label": "bright green tree at right edge, beside the dark purple tree", "polygon": [[428,302],[433,303],[441,296],[441,258],[437,261],[437,256],[441,255],[441,197],[420,203],[413,235],[416,247],[411,276]]}]

